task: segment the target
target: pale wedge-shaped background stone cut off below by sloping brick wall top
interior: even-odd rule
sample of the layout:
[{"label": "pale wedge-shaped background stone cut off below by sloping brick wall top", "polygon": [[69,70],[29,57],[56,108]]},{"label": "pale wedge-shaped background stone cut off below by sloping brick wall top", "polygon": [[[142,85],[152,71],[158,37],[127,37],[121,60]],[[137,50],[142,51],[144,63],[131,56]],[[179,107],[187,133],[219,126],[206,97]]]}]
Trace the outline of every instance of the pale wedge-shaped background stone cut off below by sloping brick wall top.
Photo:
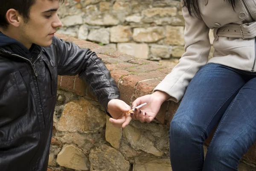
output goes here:
[{"label": "pale wedge-shaped background stone cut off below by sloping brick wall top", "polygon": [[149,48],[147,44],[118,43],[117,50],[125,52],[126,54],[132,55],[136,58],[148,59]]}]

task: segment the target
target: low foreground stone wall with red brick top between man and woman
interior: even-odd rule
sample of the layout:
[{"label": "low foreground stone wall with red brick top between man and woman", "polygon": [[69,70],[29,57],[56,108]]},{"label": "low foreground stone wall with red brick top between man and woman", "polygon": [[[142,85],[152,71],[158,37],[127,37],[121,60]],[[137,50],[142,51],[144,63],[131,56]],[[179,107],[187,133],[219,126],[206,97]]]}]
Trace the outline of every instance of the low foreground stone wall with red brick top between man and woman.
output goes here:
[{"label": "low foreground stone wall with red brick top between man and woman", "polygon": [[[150,94],[171,71],[156,62],[98,44],[57,36],[96,52],[111,71],[121,99],[127,104]],[[177,103],[164,102],[154,122],[132,121],[125,129],[114,128],[77,75],[59,76],[58,87],[48,171],[172,171],[168,131]],[[244,156],[239,171],[256,171],[255,149],[254,145]]]}]

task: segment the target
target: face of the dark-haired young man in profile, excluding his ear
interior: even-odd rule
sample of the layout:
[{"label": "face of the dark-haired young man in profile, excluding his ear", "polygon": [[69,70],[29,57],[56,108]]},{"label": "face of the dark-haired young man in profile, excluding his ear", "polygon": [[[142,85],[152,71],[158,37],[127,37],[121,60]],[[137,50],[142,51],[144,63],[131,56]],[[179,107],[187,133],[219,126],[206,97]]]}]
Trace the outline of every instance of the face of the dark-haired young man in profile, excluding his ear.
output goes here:
[{"label": "face of the dark-haired young man in profile, excluding his ear", "polygon": [[62,26],[58,8],[58,0],[36,0],[30,8],[29,19],[20,25],[20,38],[25,46],[32,43],[44,47],[51,45],[57,27]]}]

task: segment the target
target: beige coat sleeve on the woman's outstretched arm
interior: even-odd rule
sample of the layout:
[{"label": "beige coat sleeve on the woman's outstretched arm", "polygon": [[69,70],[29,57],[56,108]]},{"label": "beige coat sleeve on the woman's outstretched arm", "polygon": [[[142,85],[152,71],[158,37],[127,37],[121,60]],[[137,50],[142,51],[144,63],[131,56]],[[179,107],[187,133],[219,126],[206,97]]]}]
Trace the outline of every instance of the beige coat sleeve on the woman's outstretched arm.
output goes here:
[{"label": "beige coat sleeve on the woman's outstretched arm", "polygon": [[191,17],[185,6],[182,8],[182,14],[185,20],[185,53],[179,64],[154,89],[166,92],[171,96],[169,100],[175,102],[180,101],[191,79],[204,64],[207,64],[211,48],[209,28],[201,16]]}]

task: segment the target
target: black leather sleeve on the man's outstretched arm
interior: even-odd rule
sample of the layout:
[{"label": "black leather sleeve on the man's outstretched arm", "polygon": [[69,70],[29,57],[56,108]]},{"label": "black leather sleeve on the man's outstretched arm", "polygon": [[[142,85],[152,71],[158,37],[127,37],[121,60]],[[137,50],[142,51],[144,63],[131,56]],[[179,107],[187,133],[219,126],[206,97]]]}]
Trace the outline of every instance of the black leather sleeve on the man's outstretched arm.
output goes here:
[{"label": "black leather sleeve on the man's outstretched arm", "polygon": [[[58,75],[77,75],[90,86],[99,103],[106,109],[111,99],[120,99],[119,89],[101,58],[90,49],[54,38]],[[107,112],[110,116],[110,114]]]}]

